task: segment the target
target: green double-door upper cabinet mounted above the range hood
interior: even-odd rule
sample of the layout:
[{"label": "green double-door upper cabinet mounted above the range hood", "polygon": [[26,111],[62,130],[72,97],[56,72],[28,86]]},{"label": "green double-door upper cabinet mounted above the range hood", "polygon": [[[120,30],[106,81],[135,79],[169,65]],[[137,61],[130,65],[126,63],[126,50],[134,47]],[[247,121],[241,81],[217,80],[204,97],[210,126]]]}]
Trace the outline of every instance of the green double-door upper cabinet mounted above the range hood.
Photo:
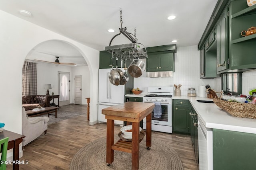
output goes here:
[{"label": "green double-door upper cabinet mounted above the range hood", "polygon": [[174,71],[174,53],[176,44],[148,47],[146,72]]}]

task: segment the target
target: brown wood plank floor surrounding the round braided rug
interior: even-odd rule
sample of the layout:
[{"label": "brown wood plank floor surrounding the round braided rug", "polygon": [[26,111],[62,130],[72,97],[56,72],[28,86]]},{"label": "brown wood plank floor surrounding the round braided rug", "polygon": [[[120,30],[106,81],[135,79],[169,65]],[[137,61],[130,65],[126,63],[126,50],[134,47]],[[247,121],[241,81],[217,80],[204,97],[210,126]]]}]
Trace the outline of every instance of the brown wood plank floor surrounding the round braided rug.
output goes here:
[{"label": "brown wood plank floor surrounding the round braided rug", "polygon": [[[89,125],[86,106],[68,105],[60,109],[85,114],[48,125],[46,136],[42,134],[26,145],[20,160],[28,160],[28,164],[21,164],[20,170],[69,170],[70,162],[79,149],[106,136],[105,123]],[[119,131],[120,126],[116,126],[115,134]],[[198,169],[190,136],[152,131],[152,138],[169,143],[180,155],[185,170]],[[11,169],[12,166],[8,165],[7,170]]]}]

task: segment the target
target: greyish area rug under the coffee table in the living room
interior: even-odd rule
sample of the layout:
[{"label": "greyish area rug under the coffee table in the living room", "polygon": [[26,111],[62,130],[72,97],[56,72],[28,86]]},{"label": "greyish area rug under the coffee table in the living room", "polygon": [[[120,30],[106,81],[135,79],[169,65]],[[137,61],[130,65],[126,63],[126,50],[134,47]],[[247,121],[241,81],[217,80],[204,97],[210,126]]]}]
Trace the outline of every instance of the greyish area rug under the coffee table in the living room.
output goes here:
[{"label": "greyish area rug under the coffee table in the living room", "polygon": [[[69,119],[71,117],[75,117],[75,116],[79,116],[79,115],[83,115],[83,114],[86,115],[86,113],[72,112],[72,111],[60,111],[60,110],[57,111],[57,118],[55,118],[55,113],[50,113],[50,114],[52,114],[52,115],[50,115],[50,117],[49,117],[48,125],[58,122],[58,121]],[[40,115],[40,116],[48,117],[47,114]]]}]

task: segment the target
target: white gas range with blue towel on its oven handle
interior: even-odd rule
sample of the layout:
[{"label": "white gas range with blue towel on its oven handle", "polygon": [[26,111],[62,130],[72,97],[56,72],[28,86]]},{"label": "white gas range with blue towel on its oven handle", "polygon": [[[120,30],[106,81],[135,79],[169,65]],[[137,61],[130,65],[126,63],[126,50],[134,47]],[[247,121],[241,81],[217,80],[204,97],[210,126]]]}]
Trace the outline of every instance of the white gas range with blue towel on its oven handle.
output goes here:
[{"label": "white gas range with blue towel on its oven handle", "polygon": [[[172,133],[172,87],[148,87],[148,95],[143,97],[144,103],[154,103],[152,113],[152,131]],[[146,129],[146,119],[143,119]]]}]

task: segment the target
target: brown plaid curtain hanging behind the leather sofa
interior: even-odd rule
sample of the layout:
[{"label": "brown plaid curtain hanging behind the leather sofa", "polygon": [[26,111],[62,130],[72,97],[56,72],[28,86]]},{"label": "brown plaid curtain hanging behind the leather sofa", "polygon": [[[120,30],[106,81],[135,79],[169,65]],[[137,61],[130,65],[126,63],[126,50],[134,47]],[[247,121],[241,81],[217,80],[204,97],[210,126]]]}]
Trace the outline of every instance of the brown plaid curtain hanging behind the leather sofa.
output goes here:
[{"label": "brown plaid curtain hanging behind the leather sofa", "polygon": [[22,68],[22,95],[37,94],[36,63],[25,61]]}]

